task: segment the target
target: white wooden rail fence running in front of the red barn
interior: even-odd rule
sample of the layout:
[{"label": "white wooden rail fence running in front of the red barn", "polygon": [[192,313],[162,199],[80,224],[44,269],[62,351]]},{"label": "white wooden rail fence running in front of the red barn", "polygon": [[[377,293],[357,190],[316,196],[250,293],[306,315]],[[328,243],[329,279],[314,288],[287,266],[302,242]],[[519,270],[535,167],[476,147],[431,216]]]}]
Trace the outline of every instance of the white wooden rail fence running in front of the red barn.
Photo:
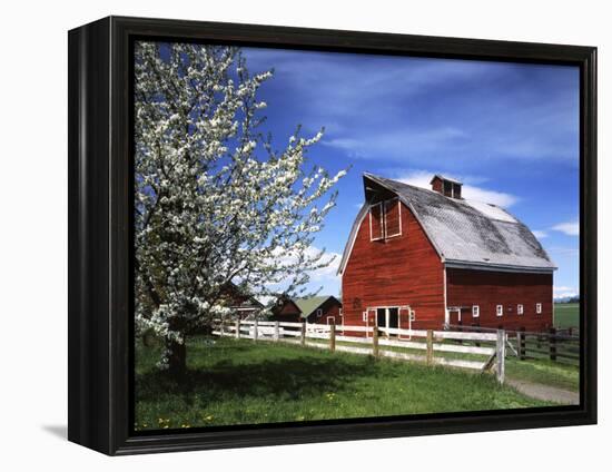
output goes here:
[{"label": "white wooden rail fence running in front of the red barn", "polygon": [[[506,334],[503,330],[478,333],[216,319],[213,334],[423,362],[427,365],[495,371],[500,383],[504,382],[505,375]],[[467,355],[464,356],[466,358],[461,358],[462,354]]]}]

